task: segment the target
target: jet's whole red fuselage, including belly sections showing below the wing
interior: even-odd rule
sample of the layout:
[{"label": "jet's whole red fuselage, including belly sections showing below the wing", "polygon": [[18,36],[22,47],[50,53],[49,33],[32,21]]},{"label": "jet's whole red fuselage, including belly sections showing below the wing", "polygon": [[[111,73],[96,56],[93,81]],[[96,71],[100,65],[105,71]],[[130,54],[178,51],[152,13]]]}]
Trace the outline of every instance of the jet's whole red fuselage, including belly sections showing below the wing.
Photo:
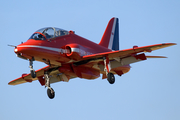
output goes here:
[{"label": "jet's whole red fuselage, including belly sections showing below the wing", "polygon": [[[41,35],[39,32],[34,34]],[[105,74],[104,66],[101,66],[103,63],[93,64],[85,62],[78,67],[73,65],[73,63],[81,61],[83,56],[101,54],[112,50],[80,37],[74,34],[73,31],[69,31],[69,34],[49,39],[44,34],[42,35],[44,36],[43,39],[31,37],[26,42],[18,45],[15,48],[15,53],[22,58],[34,59],[51,66],[61,66],[59,68],[60,72],[69,76],[95,79],[100,76],[100,73]],[[130,66],[125,65],[113,69],[116,71],[115,74],[122,75],[130,70]],[[79,71],[81,72],[79,73]]]}]

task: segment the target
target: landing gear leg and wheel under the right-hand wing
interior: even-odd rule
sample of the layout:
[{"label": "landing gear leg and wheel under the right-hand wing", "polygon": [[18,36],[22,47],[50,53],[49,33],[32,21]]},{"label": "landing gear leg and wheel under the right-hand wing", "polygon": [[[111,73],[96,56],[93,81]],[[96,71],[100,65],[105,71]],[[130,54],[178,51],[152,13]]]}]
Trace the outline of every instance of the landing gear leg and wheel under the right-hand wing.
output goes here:
[{"label": "landing gear leg and wheel under the right-hand wing", "polygon": [[103,57],[104,60],[104,71],[106,72],[107,75],[107,80],[110,84],[114,84],[115,82],[115,77],[113,73],[110,73],[111,70],[111,65],[108,57]]}]

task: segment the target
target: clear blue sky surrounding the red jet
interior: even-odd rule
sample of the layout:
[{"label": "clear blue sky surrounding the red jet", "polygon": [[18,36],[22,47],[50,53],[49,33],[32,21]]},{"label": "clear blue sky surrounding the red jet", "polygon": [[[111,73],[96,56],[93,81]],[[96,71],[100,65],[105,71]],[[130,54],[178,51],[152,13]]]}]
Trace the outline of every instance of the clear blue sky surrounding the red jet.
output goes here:
[{"label": "clear blue sky surrounding the red jet", "polygon": [[[0,120],[179,120],[180,1],[179,0],[2,0],[0,1]],[[43,27],[73,30],[99,43],[108,21],[120,20],[120,48],[158,43],[178,45],[132,64],[129,73],[110,85],[98,78],[52,84],[55,99],[38,81],[9,86],[29,73],[29,62],[17,58],[7,44],[18,45]],[[44,67],[34,62],[34,68]]]}]

